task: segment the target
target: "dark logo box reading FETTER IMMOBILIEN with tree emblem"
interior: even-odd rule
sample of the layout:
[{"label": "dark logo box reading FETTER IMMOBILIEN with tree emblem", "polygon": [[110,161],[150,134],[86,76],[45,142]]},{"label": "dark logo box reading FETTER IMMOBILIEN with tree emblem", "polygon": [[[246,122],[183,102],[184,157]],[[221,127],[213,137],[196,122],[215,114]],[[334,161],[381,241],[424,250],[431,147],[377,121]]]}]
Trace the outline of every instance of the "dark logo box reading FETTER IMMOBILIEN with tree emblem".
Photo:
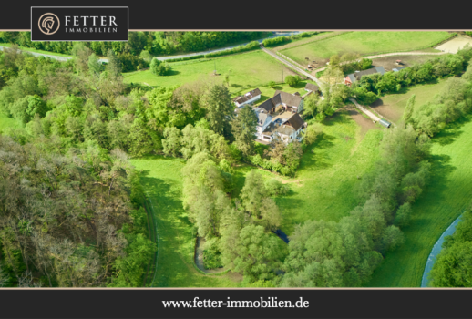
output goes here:
[{"label": "dark logo box reading FETTER IMMOBILIEN with tree emblem", "polygon": [[32,41],[128,41],[128,6],[33,6]]}]

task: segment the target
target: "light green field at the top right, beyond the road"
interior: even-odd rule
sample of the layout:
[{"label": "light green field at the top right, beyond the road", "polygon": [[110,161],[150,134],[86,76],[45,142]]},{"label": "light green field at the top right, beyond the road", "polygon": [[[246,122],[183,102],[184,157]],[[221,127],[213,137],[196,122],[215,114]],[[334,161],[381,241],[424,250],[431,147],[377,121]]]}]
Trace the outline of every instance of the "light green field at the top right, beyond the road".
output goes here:
[{"label": "light green field at the top right, beyond the road", "polygon": [[282,54],[304,65],[305,57],[316,61],[316,67],[326,64],[334,54],[397,52],[433,45],[448,36],[446,31],[359,31],[316,41],[305,46],[282,50]]}]

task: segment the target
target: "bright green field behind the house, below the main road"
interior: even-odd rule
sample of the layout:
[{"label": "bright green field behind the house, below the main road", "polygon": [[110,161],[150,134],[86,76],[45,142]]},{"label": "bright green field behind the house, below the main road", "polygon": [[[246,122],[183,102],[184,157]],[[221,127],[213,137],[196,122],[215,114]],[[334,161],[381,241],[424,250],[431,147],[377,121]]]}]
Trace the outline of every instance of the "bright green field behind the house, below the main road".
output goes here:
[{"label": "bright green field behind the house, below the main road", "polygon": [[[213,76],[215,69],[219,76]],[[244,87],[267,86],[270,81],[282,81],[283,77],[295,73],[261,50],[228,57],[214,58],[209,61],[195,62],[185,65],[172,66],[169,76],[157,77],[149,70],[123,74],[127,83],[148,83],[150,86],[170,87],[199,79],[216,79],[223,81],[230,74],[230,91],[241,91]]]}]

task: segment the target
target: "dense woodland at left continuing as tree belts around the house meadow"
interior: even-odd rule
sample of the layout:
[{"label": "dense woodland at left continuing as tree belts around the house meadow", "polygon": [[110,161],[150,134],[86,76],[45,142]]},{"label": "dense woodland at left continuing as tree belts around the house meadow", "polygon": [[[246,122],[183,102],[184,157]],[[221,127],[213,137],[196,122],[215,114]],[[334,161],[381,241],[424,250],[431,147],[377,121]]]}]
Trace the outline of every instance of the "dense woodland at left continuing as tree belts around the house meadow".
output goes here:
[{"label": "dense woodland at left continuing as tree belts around the house meadow", "polygon": [[[313,122],[368,83],[323,87],[323,100],[306,101],[303,143],[264,149],[254,142],[254,112],[246,106],[235,117],[225,84],[124,84],[112,49],[105,67],[82,43],[71,51],[67,62],[15,47],[0,56],[0,112],[24,125],[2,128],[0,139],[5,286],[142,285],[156,247],[128,156],[151,153],[186,159],[183,203],[205,239],[207,266],[243,273],[248,286],[361,286],[404,241],[411,203],[427,187],[430,138],[472,108],[472,50],[431,63],[437,70],[446,61],[446,87],[426,105],[411,98],[405,127],[385,131],[380,160],[358,183],[359,205],[339,222],[305,221],[287,245],[272,233],[282,222],[273,196],[289,190],[252,170],[240,196],[231,197],[234,165],[257,158],[293,174],[323,134]],[[422,66],[405,72],[412,69],[424,73]],[[411,78],[405,85],[419,81]],[[372,93],[370,85],[364,89]]]}]

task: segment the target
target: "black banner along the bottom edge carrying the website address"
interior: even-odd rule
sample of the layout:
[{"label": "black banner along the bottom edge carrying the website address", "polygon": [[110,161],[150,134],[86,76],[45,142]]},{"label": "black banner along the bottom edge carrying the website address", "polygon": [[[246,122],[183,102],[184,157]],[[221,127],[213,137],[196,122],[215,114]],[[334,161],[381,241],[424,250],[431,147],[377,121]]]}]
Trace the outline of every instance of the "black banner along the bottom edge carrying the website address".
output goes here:
[{"label": "black banner along the bottom edge carrying the website address", "polygon": [[471,297],[469,289],[0,290],[2,317],[12,318],[467,318]]}]

